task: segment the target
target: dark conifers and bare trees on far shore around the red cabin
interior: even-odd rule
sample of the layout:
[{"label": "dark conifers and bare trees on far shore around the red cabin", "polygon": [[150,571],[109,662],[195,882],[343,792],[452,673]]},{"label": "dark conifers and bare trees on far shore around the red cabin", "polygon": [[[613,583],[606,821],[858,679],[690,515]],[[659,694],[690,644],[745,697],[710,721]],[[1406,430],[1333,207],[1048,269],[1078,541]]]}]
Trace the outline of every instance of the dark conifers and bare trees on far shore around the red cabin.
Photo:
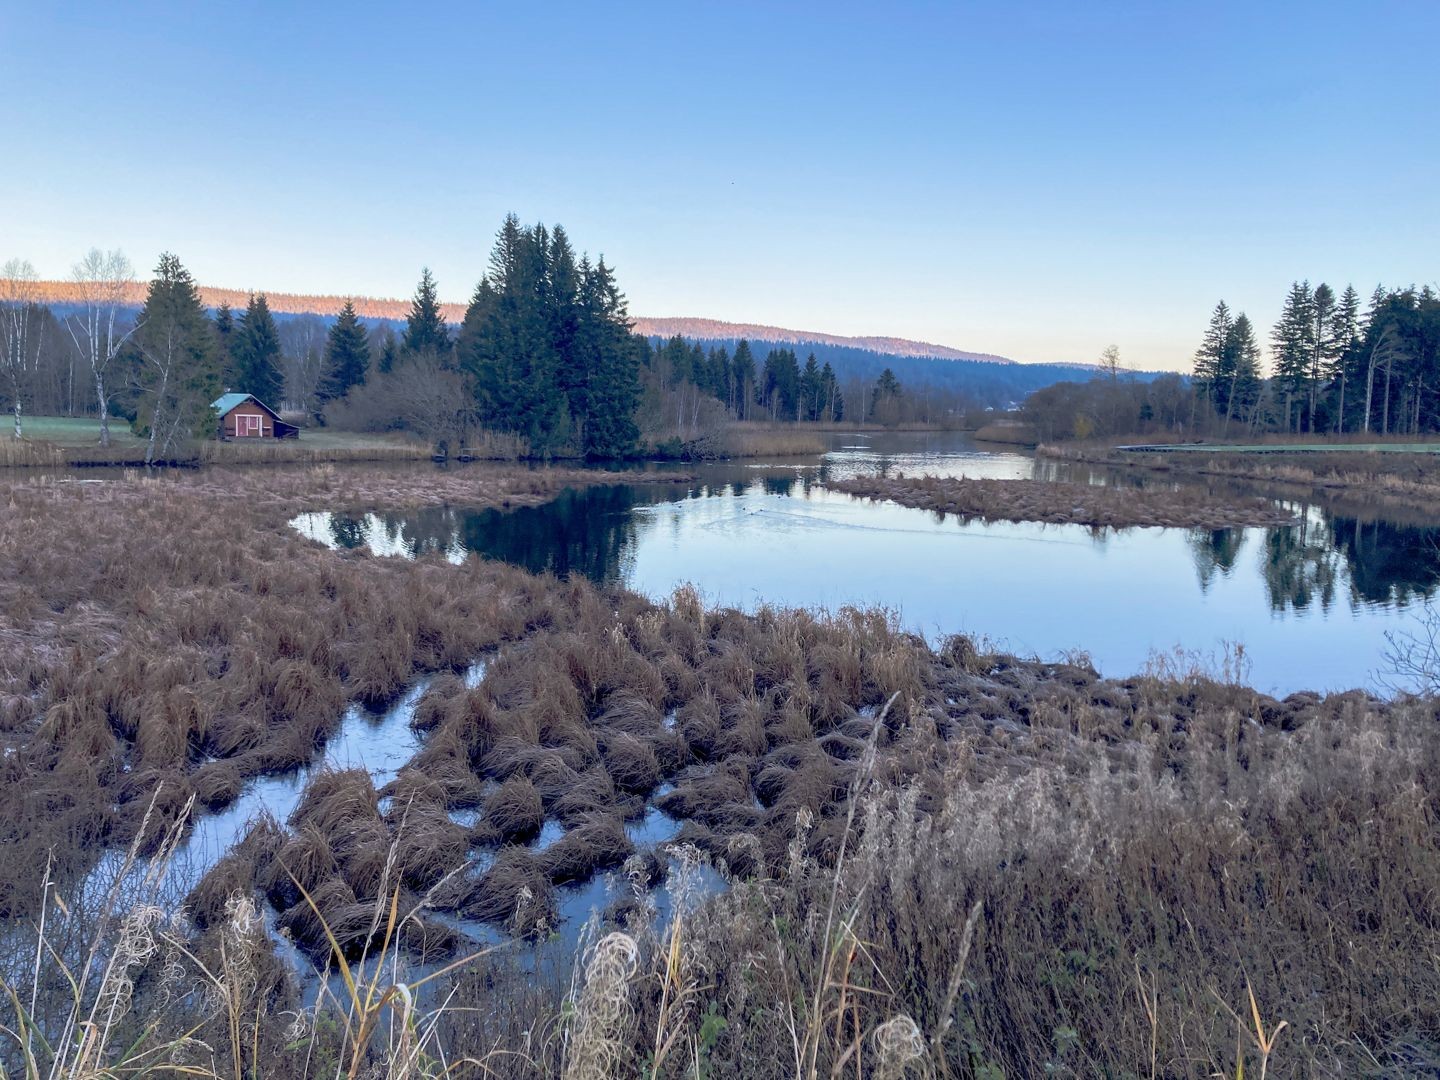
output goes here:
[{"label": "dark conifers and bare trees on far shore around the red cabin", "polygon": [[[577,255],[563,226],[523,226],[511,215],[458,327],[422,272],[403,328],[367,325],[346,301],[318,317],[276,323],[264,294],[240,311],[203,305],[189,271],[164,253],[138,312],[121,252],[91,252],[73,269],[79,301],[39,301],[35,269],[0,271],[0,395],[23,435],[26,413],[95,415],[109,445],[120,418],[147,439],[147,459],[215,433],[210,402],[251,393],[314,423],[409,431],[441,452],[480,431],[514,435],[537,456],[624,456],[642,436],[683,448],[730,419],[894,422],[906,395],[890,369],[841,389],[829,363],[792,348],[759,360],[632,333],[625,297],[605,259]],[[644,423],[642,423],[644,420]],[[642,431],[644,426],[644,431]]]}]

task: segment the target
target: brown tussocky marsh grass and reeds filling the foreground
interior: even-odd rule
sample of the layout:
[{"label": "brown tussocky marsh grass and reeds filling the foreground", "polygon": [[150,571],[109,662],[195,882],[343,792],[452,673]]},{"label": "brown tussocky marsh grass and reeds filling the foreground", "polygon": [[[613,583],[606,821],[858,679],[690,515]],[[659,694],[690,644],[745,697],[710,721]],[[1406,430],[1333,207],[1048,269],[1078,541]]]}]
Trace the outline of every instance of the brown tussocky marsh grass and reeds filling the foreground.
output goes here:
[{"label": "brown tussocky marsh grass and reeds filling the foreground", "polygon": [[[22,940],[0,956],[20,1032],[7,1068],[1440,1067],[1433,703],[1274,700],[1168,661],[1107,680],[1079,657],[930,648],[878,611],[652,602],[480,560],[330,552],[285,524],[390,498],[534,501],[572,480],[0,481],[0,913],[16,933],[92,942],[127,986],[121,1009],[104,981],[65,976],[73,945]],[[347,701],[485,652],[478,685],[431,683],[422,746],[392,783],[315,770],[294,814],[256,821],[163,924],[144,893],[98,916],[55,903],[99,851],[158,865],[197,804],[312,762]],[[680,821],[658,852],[625,829],[647,806]],[[546,822],[560,835],[541,848]],[[540,956],[559,890],[605,873],[622,903],[554,978]],[[701,890],[707,876],[724,888]],[[444,913],[541,953],[469,958]],[[338,999],[298,1004],[266,917],[341,975]],[[84,1027],[102,1002],[120,1020]],[[62,1037],[79,1028],[76,1058]]]}]

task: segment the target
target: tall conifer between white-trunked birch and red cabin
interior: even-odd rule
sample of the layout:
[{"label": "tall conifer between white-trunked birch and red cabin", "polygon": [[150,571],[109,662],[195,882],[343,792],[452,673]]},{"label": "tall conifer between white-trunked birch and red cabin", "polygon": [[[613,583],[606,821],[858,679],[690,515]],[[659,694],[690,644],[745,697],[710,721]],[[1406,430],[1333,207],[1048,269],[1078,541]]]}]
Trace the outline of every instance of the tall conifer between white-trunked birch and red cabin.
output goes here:
[{"label": "tall conifer between white-trunked birch and red cabin", "polygon": [[210,402],[219,393],[215,327],[190,272],[170,252],[156,276],[131,337],[135,426],[147,435],[145,464],[167,459],[177,444],[215,431]]}]

